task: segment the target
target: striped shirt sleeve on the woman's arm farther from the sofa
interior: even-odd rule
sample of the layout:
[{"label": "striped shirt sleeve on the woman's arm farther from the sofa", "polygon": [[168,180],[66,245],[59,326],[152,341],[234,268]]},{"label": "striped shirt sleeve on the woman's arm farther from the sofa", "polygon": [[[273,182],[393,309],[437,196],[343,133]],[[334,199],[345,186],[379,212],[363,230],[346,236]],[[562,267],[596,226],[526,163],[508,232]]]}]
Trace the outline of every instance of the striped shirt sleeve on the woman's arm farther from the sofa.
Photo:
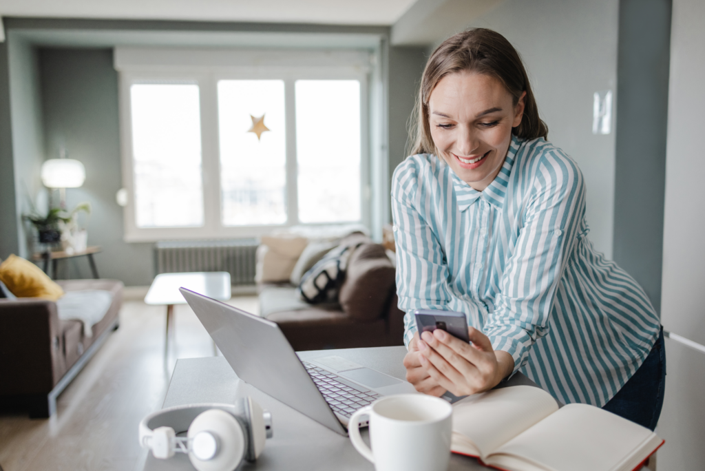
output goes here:
[{"label": "striped shirt sleeve on the woman's arm farther from the sofa", "polygon": [[575,162],[560,151],[539,159],[495,310],[484,326],[493,348],[514,358],[514,372],[548,334],[558,283],[585,213],[584,181]]}]

